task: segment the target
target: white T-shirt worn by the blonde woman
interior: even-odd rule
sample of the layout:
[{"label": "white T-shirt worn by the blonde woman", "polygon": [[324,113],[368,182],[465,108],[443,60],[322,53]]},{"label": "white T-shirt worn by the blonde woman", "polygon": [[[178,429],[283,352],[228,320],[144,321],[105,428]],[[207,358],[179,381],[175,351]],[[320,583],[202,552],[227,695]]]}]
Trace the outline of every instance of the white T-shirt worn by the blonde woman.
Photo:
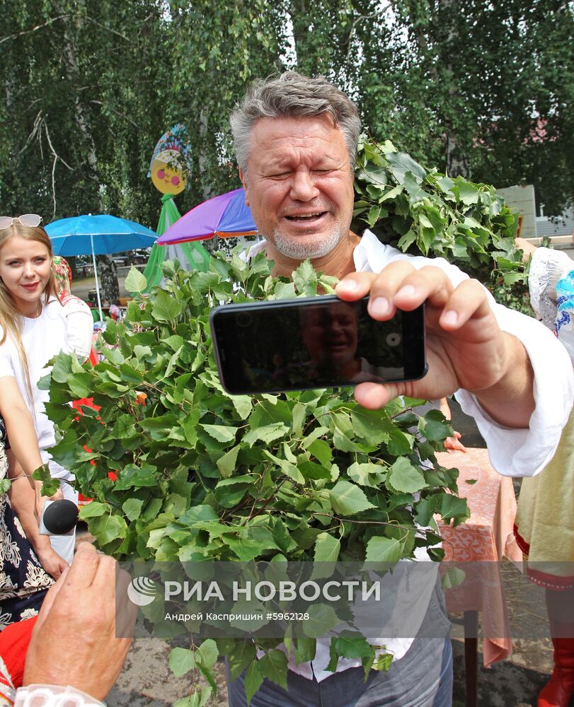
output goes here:
[{"label": "white T-shirt worn by the blonde woman", "polygon": [[[52,447],[56,443],[56,439],[54,425],[44,411],[44,404],[50,399],[50,392],[40,390],[38,380],[49,372],[50,368],[47,368],[46,364],[50,358],[59,354],[60,351],[67,351],[66,320],[62,305],[56,298],[52,298],[47,305],[43,305],[42,313],[36,319],[22,318],[21,337],[28,357],[33,399],[32,401],[29,399],[28,385],[25,382],[25,373],[22,370],[18,349],[9,334],[4,344],[0,346],[0,385],[1,378],[4,376],[16,378],[16,385],[18,385],[22,398],[33,417],[38,446],[40,450],[45,450]],[[3,332],[0,330],[1,333]]]}]

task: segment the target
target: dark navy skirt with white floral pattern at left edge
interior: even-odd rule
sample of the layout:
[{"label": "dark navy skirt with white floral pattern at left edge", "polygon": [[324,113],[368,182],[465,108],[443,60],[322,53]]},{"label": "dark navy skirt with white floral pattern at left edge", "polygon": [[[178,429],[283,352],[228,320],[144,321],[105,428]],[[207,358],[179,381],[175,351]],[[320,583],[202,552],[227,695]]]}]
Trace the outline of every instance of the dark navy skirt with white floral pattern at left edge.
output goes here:
[{"label": "dark navy skirt with white floral pattern at left edge", "polygon": [[[0,477],[6,473],[6,430],[0,418]],[[38,614],[54,580],[35,556],[6,493],[0,494],[0,631]]]}]

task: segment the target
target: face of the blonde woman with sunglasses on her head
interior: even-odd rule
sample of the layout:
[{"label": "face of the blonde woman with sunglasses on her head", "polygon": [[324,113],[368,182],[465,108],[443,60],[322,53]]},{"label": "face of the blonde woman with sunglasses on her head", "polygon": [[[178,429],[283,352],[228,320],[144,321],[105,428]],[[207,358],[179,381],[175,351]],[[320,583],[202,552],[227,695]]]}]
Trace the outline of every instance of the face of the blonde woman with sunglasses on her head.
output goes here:
[{"label": "face of the blonde woman with sunglasses on her head", "polygon": [[0,278],[22,315],[34,316],[38,310],[51,266],[50,253],[38,240],[13,235],[0,248]]}]

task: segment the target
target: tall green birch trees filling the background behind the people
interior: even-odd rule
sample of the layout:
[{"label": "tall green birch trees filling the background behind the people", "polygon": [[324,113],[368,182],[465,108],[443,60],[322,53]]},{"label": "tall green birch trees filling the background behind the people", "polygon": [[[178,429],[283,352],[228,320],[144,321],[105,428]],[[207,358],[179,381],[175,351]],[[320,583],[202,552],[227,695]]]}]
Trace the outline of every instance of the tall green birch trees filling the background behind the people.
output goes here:
[{"label": "tall green birch trees filling the background behind the people", "polygon": [[[47,218],[109,211],[155,226],[159,136],[187,125],[187,211],[239,185],[229,110],[251,79],[323,73],[369,134],[507,186],[547,214],[572,199],[573,11],[560,0],[4,2],[0,201]],[[465,171],[466,170],[466,171]]]}]

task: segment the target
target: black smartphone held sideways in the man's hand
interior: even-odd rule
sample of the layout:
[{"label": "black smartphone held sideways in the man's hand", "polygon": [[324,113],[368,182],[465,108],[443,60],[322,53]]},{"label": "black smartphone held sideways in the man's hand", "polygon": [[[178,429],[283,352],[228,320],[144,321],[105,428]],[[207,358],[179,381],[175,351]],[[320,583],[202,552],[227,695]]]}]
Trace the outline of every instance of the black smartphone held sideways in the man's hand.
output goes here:
[{"label": "black smartphone held sideways in the man's hand", "polygon": [[367,312],[368,297],[221,305],[209,317],[219,378],[231,395],[417,380],[427,372],[425,312]]}]

